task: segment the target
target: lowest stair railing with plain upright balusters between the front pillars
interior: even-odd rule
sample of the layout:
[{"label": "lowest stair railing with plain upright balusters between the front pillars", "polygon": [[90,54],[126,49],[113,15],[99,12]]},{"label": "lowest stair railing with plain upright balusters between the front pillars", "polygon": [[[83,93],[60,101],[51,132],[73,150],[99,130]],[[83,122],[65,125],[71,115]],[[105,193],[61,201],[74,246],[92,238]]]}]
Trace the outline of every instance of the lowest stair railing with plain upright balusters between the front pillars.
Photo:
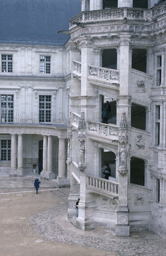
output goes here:
[{"label": "lowest stair railing with plain upright balusters between the front pillars", "polygon": [[119,196],[118,182],[112,182],[106,179],[86,175],[86,186],[95,193],[102,193],[103,195]]}]

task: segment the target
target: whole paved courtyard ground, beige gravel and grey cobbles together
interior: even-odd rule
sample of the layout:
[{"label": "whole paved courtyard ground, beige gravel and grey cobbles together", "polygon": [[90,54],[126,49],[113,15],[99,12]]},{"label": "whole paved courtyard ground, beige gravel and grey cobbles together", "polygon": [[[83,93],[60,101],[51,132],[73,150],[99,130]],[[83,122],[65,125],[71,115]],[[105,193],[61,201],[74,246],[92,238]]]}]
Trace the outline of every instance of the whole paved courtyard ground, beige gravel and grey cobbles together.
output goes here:
[{"label": "whole paved courtyard ground, beige gravel and grey cobbles together", "polygon": [[36,195],[35,177],[0,177],[0,256],[166,256],[165,241],[151,232],[76,229],[66,218],[69,189],[41,181]]}]

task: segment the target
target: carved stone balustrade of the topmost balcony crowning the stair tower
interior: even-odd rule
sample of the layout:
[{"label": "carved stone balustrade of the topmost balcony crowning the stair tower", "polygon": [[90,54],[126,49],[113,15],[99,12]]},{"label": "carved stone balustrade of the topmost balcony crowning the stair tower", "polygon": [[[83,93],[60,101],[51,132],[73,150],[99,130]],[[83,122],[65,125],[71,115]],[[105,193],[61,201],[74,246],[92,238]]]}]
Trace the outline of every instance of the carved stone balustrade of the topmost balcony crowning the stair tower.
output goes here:
[{"label": "carved stone balustrade of the topmost balcony crowning the stair tower", "polygon": [[140,9],[140,8],[108,8],[104,10],[86,11],[78,14],[74,18],[70,19],[70,28],[77,25],[77,23],[86,23],[89,21],[103,21],[103,20],[119,20],[119,19],[149,19],[153,17],[153,12],[155,16],[166,12],[165,5],[160,5],[159,10],[156,9]]}]

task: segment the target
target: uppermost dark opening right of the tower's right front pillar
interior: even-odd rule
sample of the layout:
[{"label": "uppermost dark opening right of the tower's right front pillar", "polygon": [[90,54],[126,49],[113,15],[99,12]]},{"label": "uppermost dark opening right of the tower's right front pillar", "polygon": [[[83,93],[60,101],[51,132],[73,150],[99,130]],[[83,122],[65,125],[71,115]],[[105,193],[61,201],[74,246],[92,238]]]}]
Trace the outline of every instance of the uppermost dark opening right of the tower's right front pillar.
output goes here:
[{"label": "uppermost dark opening right of the tower's right front pillar", "polygon": [[145,49],[133,49],[132,68],[146,73],[146,50]]}]

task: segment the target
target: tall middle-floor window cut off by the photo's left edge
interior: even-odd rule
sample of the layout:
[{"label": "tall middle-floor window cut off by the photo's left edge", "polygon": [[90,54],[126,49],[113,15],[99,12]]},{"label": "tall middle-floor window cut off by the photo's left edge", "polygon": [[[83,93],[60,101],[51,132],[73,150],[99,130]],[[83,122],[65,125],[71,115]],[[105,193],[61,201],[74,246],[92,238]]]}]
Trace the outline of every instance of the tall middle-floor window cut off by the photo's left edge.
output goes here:
[{"label": "tall middle-floor window cut off by the photo's left edge", "polygon": [[13,122],[13,95],[0,95],[1,122]]}]

